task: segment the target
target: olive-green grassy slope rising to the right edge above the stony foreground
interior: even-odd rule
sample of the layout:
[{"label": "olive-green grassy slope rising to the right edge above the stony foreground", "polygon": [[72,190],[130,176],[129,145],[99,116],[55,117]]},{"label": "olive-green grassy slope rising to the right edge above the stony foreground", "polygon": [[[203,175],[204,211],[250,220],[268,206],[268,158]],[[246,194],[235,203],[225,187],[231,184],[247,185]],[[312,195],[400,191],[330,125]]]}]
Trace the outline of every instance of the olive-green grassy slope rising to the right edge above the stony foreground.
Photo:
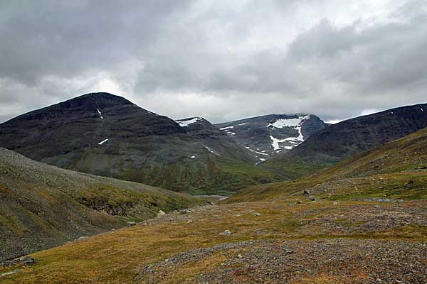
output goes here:
[{"label": "olive-green grassy slope rising to the right edge above the stony foreground", "polygon": [[[260,185],[226,202],[299,199],[301,190],[319,197],[427,199],[427,129],[359,153],[308,178]],[[323,192],[320,192],[322,190]],[[386,196],[384,196],[386,195]]]}]

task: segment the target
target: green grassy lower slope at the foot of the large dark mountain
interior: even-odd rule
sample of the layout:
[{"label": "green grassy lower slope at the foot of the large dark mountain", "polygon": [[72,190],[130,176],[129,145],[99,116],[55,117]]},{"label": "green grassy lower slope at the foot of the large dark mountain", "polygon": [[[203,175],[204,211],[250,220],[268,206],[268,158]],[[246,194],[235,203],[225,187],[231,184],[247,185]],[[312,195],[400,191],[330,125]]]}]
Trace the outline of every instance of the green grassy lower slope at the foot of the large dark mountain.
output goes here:
[{"label": "green grassy lower slope at the foot of the large dark mountain", "polygon": [[[132,170],[130,175],[134,177],[130,180],[141,179],[150,185],[193,195],[231,195],[244,187],[280,180],[278,175],[224,156],[209,153],[196,157],[141,171]],[[128,179],[127,176],[122,178]]]}]

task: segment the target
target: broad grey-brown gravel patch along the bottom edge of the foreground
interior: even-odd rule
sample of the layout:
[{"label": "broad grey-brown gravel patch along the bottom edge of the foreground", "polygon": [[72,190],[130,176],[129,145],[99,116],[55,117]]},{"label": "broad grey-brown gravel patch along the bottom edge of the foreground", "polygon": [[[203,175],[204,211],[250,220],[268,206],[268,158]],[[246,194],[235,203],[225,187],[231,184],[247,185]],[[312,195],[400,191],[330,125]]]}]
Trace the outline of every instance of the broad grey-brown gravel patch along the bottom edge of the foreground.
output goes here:
[{"label": "broad grey-brown gravel patch along the bottom edge of the foreground", "polygon": [[422,242],[325,239],[241,241],[178,253],[144,268],[140,283],[427,283]]}]

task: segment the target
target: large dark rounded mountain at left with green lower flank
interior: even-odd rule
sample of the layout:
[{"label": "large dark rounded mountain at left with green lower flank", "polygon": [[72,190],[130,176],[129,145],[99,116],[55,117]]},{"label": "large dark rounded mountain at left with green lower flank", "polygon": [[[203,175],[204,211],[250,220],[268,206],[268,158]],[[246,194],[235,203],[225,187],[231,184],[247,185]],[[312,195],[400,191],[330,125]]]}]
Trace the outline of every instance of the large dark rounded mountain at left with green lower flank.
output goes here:
[{"label": "large dark rounded mountain at left with green lower flank", "polygon": [[60,168],[195,194],[278,180],[209,125],[180,126],[122,97],[93,93],[0,124],[0,146]]}]

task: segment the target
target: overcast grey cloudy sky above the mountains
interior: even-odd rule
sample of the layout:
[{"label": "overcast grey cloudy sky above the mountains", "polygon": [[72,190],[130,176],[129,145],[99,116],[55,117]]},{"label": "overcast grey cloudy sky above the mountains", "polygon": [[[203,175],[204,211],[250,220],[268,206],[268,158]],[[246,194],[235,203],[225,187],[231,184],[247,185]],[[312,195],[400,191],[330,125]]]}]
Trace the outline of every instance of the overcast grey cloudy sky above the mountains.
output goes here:
[{"label": "overcast grey cloudy sky above the mountains", "polygon": [[427,102],[426,3],[0,0],[0,121],[88,92],[212,122]]}]

